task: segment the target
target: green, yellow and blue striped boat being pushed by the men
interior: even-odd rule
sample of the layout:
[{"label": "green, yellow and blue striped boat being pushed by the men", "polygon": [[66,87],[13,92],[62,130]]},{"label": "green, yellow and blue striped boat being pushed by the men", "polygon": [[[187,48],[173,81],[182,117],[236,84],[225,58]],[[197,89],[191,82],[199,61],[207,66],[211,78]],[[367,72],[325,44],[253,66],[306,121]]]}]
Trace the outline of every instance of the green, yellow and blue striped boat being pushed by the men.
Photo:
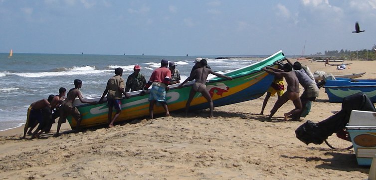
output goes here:
[{"label": "green, yellow and blue striped boat being pushed by the men", "polygon": [[[218,77],[209,79],[206,83],[206,89],[210,92],[214,107],[248,101],[262,96],[274,78],[273,75],[266,73],[262,68],[272,66],[274,62],[283,59],[285,59],[284,54],[282,51],[278,51],[254,64],[225,73],[225,75],[232,77],[232,80]],[[177,87],[178,84],[169,86],[167,104],[170,111],[185,108],[191,89],[190,86],[193,83],[193,81],[188,82],[181,89]],[[149,93],[144,96],[139,96],[139,93],[140,91],[130,92],[128,93],[131,96],[129,99],[122,99],[122,113],[119,115],[117,122],[149,116]],[[98,101],[99,99],[100,97],[87,98],[88,101]],[[82,128],[108,124],[108,107],[106,103],[97,105],[82,104],[76,99],[73,104],[82,114]],[[190,110],[200,110],[208,107],[206,99],[200,93],[196,93],[191,102]],[[164,112],[162,106],[155,106],[155,114]],[[76,121],[72,121],[72,117],[68,117],[68,122],[72,129],[76,127]]]}]

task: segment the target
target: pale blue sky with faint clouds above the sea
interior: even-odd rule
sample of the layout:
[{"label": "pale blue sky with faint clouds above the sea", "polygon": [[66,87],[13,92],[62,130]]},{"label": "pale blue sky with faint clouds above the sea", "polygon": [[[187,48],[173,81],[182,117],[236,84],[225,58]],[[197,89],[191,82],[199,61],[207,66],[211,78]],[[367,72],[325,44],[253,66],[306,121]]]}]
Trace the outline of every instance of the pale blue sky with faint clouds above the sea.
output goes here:
[{"label": "pale blue sky with faint clouds above the sea", "polygon": [[372,49],[375,20],[376,0],[0,0],[0,52],[310,55]]}]

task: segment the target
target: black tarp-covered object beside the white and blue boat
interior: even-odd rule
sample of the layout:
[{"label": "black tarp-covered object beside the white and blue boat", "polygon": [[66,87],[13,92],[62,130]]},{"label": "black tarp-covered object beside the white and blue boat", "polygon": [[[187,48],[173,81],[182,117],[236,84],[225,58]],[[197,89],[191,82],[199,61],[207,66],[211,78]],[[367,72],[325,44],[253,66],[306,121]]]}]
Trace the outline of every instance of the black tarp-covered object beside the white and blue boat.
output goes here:
[{"label": "black tarp-covered object beside the white and blue boat", "polygon": [[319,123],[307,121],[295,130],[296,138],[305,144],[321,144],[328,136],[345,129],[352,110],[376,111],[366,94],[359,92],[344,98],[338,113]]}]

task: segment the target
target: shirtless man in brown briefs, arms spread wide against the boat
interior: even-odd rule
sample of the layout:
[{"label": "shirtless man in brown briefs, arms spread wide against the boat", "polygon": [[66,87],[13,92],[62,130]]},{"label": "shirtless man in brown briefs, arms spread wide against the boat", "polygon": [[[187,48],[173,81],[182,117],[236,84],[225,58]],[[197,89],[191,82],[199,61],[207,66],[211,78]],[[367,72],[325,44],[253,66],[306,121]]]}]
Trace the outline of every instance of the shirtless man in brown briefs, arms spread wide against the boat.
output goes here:
[{"label": "shirtless man in brown briefs, arms spread wide against the boat", "polygon": [[206,65],[207,65],[206,59],[200,59],[198,62],[199,62],[198,64],[196,62],[196,64],[198,65],[197,68],[178,87],[182,88],[185,83],[195,79],[196,81],[194,82],[192,89],[190,89],[188,101],[187,101],[187,104],[186,104],[186,116],[188,114],[190,102],[192,101],[193,96],[196,94],[196,92],[200,92],[202,94],[202,96],[209,103],[209,107],[210,107],[210,116],[209,117],[212,118],[213,117],[213,110],[214,110],[213,100],[211,99],[209,91],[206,89],[206,85],[205,85],[206,84],[206,78],[209,74],[213,74],[213,75],[216,75],[218,77],[224,77],[224,78],[227,78],[228,80],[232,80],[232,78],[225,76],[225,75],[222,75],[222,74],[219,74],[219,73],[216,73],[216,72],[212,71],[211,69],[207,68],[206,67]]}]

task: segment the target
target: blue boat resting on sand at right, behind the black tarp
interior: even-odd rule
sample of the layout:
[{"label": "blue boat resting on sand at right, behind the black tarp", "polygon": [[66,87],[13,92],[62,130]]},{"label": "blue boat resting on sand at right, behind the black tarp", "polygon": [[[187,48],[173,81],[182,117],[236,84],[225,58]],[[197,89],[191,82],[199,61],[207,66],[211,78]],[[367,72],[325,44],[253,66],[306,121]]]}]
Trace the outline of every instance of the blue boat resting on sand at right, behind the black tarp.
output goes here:
[{"label": "blue boat resting on sand at right, behind the black tarp", "polygon": [[358,92],[365,93],[372,102],[376,102],[376,79],[350,79],[335,78],[325,80],[325,92],[328,94],[329,102],[342,102],[346,96]]}]

